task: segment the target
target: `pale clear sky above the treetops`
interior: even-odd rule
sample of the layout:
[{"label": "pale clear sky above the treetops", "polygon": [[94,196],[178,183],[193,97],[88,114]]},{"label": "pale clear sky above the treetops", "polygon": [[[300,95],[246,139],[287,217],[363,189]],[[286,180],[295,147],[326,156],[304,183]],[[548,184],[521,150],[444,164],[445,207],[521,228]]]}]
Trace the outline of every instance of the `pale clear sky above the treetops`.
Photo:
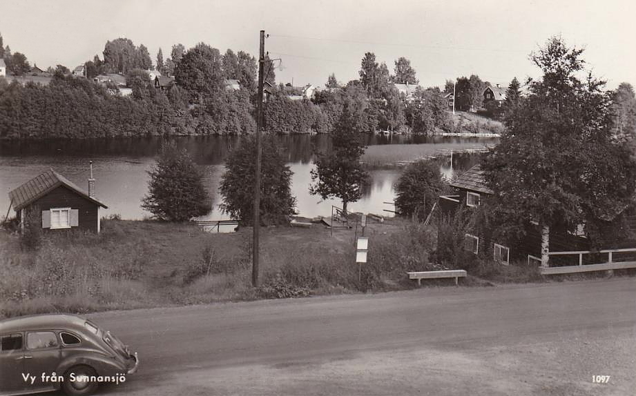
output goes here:
[{"label": "pale clear sky above the treetops", "polygon": [[73,68],[102,57],[117,37],[143,43],[153,61],[162,48],[209,43],[225,52],[282,59],[277,82],[323,86],[358,78],[365,52],[393,70],[410,59],[422,86],[476,74],[507,86],[539,77],[528,55],[551,36],[585,48],[587,68],[608,81],[636,85],[633,0],[0,0],[0,34],[12,52],[39,68]]}]

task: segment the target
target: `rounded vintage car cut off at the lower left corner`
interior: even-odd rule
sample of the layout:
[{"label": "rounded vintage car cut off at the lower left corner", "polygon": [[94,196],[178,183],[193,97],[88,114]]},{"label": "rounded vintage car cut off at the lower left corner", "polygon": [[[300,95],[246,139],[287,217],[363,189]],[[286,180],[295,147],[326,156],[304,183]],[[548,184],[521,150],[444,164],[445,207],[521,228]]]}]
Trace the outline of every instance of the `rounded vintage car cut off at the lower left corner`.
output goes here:
[{"label": "rounded vintage car cut off at the lower left corner", "polygon": [[102,383],[121,385],[137,366],[137,353],[77,315],[0,321],[0,395],[57,389],[88,395]]}]

